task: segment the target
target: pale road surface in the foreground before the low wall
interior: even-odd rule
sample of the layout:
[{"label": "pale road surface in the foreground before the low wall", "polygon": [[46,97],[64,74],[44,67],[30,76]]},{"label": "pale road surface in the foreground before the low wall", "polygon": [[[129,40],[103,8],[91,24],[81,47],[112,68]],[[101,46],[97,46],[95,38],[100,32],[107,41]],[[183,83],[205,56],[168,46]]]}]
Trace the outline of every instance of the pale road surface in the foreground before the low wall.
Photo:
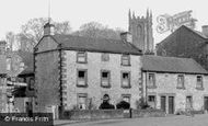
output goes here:
[{"label": "pale road surface in the foreground before the low wall", "polygon": [[208,126],[208,114],[102,121],[55,121],[55,126]]}]

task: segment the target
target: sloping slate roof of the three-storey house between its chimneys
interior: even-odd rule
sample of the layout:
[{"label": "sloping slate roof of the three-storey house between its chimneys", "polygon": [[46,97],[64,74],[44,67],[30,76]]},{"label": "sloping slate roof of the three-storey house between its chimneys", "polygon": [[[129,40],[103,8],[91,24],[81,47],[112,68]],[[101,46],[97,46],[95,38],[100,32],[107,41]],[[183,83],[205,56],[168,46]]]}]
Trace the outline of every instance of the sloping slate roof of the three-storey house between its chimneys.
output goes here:
[{"label": "sloping slate roof of the three-storey house between its chimneys", "polygon": [[132,54],[140,55],[141,50],[130,43],[125,43],[122,39],[105,39],[105,38],[89,38],[83,36],[72,35],[54,35],[54,38],[61,43],[63,49]]}]

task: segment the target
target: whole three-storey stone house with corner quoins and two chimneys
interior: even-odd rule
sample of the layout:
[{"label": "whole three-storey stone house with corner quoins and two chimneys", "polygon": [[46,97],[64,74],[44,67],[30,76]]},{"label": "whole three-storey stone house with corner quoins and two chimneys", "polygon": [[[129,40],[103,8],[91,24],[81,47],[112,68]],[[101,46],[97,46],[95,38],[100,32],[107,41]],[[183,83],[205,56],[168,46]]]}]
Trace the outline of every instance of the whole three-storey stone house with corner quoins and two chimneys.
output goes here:
[{"label": "whole three-storey stone house with corner quoins and two chimneys", "polygon": [[97,108],[104,94],[114,105],[124,99],[136,108],[141,96],[140,56],[129,33],[120,41],[55,35],[47,23],[34,48],[36,110]]}]

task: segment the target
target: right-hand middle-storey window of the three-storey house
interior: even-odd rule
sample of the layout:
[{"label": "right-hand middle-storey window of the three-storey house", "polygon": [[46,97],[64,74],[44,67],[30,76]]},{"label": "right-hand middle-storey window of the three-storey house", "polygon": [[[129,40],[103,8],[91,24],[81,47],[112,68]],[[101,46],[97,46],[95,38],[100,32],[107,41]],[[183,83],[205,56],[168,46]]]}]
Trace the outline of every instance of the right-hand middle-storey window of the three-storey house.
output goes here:
[{"label": "right-hand middle-storey window of the three-storey house", "polygon": [[122,72],[122,88],[130,88],[130,72]]}]

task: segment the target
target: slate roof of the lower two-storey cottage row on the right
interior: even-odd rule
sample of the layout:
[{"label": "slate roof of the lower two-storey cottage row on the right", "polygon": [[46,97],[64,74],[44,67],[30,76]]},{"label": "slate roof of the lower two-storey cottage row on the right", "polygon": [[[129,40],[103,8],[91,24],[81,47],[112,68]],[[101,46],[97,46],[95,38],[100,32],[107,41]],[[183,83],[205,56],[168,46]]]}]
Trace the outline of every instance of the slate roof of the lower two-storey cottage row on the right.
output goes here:
[{"label": "slate roof of the lower two-storey cottage row on the right", "polygon": [[208,71],[192,58],[145,55],[141,59],[145,71],[208,75]]}]

